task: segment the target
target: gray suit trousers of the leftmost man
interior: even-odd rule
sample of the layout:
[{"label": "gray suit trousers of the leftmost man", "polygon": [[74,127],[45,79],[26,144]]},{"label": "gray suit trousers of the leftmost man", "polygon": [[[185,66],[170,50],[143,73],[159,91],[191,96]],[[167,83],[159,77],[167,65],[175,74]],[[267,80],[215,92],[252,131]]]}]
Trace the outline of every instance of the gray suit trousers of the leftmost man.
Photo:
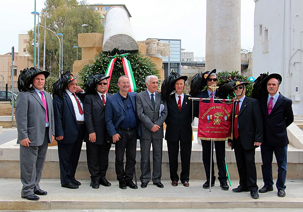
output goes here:
[{"label": "gray suit trousers of the leftmost man", "polygon": [[48,147],[48,129],[45,128],[44,139],[41,146],[24,147],[20,145],[20,176],[23,184],[21,196],[33,194],[40,189],[39,182]]}]

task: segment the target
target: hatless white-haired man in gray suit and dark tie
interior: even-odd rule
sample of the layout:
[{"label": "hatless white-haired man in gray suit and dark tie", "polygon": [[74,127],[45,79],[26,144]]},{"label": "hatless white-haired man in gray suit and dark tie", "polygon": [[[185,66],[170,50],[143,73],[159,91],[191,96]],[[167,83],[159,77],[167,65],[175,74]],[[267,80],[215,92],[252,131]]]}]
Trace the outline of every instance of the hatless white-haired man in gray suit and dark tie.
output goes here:
[{"label": "hatless white-haired man in gray suit and dark tie", "polygon": [[163,188],[162,175],[162,146],[163,122],[167,117],[166,102],[163,101],[158,89],[158,77],[151,75],[145,79],[146,91],[136,95],[137,117],[141,126],[141,188],[146,188],[150,181],[150,145],[153,144],[153,183]]}]

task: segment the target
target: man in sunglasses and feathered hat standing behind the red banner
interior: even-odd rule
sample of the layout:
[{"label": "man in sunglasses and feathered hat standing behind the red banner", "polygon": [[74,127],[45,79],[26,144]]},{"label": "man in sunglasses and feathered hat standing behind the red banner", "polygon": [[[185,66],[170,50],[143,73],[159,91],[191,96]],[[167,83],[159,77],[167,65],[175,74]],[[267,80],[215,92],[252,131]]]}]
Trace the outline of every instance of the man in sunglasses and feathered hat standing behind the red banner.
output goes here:
[{"label": "man in sunglasses and feathered hat standing behind the red banner", "polygon": [[[212,85],[217,85],[218,84],[218,78],[216,75],[216,69],[213,69],[211,72],[207,71],[202,74],[202,86],[201,89],[203,89],[205,86],[207,87],[207,90],[205,91],[199,91],[197,95],[192,96],[196,98],[210,98],[210,99],[222,99],[222,96],[219,94],[217,90],[214,91],[209,87]],[[192,87],[194,85],[191,85],[190,90],[193,90],[194,88]],[[198,85],[197,85],[198,86]],[[192,93],[192,91],[190,91]],[[204,100],[203,102],[209,103],[210,100]],[[215,101],[216,102],[216,101]],[[199,101],[194,101],[193,103],[193,114],[195,117],[198,118],[199,116]],[[217,167],[219,170],[218,173],[218,180],[220,181],[220,187],[222,190],[228,190],[229,187],[227,185],[227,175],[226,175],[226,165],[225,165],[225,141],[222,140],[215,140],[215,150],[216,150],[216,159],[217,159]],[[201,140],[201,145],[203,149],[203,164],[204,164],[204,169],[206,173],[206,182],[203,184],[203,188],[210,188],[210,186],[215,186],[215,171],[214,171],[214,161],[212,161],[212,174],[210,174],[210,169],[211,169],[211,142],[210,140]],[[212,159],[213,160],[213,159]],[[210,179],[210,175],[212,176]]]}]

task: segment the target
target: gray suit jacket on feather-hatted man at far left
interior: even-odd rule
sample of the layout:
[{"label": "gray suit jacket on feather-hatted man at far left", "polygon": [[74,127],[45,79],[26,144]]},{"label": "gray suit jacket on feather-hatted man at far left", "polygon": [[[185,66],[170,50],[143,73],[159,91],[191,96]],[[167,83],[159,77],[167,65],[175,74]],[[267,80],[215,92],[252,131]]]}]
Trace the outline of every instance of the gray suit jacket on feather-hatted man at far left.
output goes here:
[{"label": "gray suit jacket on feather-hatted man at far left", "polygon": [[[46,91],[44,91],[44,96],[49,121],[49,143],[52,143],[52,134],[55,135],[53,101]],[[16,100],[17,144],[28,137],[30,146],[41,146],[45,133],[45,120],[45,109],[37,92],[35,90],[32,90],[32,93],[20,92]]]}]

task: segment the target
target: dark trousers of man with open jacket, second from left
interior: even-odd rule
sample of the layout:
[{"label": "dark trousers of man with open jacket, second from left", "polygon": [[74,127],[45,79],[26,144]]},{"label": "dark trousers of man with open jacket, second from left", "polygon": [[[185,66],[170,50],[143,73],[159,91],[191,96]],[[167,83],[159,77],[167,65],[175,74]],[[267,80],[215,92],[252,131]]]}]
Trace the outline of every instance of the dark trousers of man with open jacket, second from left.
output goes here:
[{"label": "dark trousers of man with open jacket, second from left", "polygon": [[78,136],[75,143],[62,144],[60,143],[60,141],[58,142],[61,185],[69,184],[70,182],[75,180],[76,169],[78,166],[85,132],[85,124],[78,123],[77,128]]}]

